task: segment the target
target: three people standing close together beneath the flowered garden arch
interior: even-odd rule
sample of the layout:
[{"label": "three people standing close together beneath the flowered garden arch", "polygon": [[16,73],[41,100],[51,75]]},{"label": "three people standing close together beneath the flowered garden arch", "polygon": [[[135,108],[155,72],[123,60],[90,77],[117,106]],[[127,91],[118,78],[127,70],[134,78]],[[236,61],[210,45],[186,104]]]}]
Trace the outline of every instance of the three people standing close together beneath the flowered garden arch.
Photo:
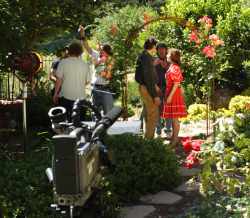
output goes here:
[{"label": "three people standing close together beneath the flowered garden arch", "polygon": [[[154,58],[156,52],[158,57]],[[155,133],[161,135],[164,123],[167,131],[172,126],[172,146],[178,143],[179,118],[187,115],[180,59],[178,49],[168,49],[166,44],[149,38],[138,56],[135,72],[144,104],[145,137],[151,139]]]}]

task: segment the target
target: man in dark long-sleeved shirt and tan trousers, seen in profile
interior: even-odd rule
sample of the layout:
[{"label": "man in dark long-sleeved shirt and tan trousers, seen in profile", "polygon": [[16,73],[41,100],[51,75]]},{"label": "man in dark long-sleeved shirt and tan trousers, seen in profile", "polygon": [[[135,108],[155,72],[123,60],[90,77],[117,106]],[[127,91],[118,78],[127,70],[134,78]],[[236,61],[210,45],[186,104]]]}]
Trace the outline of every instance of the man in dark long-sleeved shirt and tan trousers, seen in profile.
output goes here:
[{"label": "man in dark long-sleeved shirt and tan trousers, seen in profile", "polygon": [[144,43],[144,50],[138,56],[135,80],[139,84],[139,92],[146,112],[146,138],[154,138],[155,126],[159,118],[160,89],[157,86],[158,77],[154,67],[153,53],[156,51],[156,40],[149,38]]}]

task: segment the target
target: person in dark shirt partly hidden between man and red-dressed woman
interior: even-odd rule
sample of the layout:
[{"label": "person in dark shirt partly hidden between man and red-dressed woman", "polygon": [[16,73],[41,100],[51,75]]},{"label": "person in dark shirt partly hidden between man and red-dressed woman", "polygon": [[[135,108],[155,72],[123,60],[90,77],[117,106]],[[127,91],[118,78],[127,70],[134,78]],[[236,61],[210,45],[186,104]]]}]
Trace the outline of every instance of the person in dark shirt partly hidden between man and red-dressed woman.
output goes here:
[{"label": "person in dark shirt partly hidden between man and red-dressed woman", "polygon": [[[166,92],[166,72],[169,68],[169,63],[167,62],[167,45],[165,43],[158,43],[156,45],[156,51],[157,51],[157,58],[154,61],[155,70],[158,75],[158,87],[161,90],[161,106],[160,106],[160,114],[163,107],[163,101],[164,96]],[[161,136],[161,130],[164,127],[164,124],[166,123],[166,129],[165,132],[169,133],[171,132],[171,120],[167,119],[166,121],[164,119],[161,119],[159,116],[158,123],[156,125],[156,134],[158,136]]]}]

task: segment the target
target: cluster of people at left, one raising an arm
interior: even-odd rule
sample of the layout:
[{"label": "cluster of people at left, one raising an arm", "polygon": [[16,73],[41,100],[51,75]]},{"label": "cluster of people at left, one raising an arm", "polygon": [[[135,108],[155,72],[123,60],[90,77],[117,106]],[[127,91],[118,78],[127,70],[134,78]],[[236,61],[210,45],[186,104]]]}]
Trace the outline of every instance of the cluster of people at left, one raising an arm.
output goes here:
[{"label": "cluster of people at left, one raising an arm", "polygon": [[[67,118],[71,119],[71,111],[76,99],[86,99],[86,86],[93,86],[93,104],[106,114],[113,108],[113,93],[109,89],[112,78],[112,49],[108,44],[102,45],[99,51],[88,44],[84,27],[79,27],[80,41],[73,41],[63,49],[60,57],[52,64],[50,79],[55,82],[53,102],[67,110]],[[90,55],[95,68],[95,78],[92,80],[90,65],[82,59],[83,48]],[[85,111],[81,119],[85,119]]]}]

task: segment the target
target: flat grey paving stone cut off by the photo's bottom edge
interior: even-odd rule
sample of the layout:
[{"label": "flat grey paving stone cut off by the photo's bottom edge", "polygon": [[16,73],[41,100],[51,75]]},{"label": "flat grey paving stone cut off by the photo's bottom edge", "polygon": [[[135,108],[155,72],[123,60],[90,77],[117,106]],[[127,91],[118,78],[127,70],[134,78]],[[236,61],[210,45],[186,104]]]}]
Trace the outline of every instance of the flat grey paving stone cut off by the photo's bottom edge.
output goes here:
[{"label": "flat grey paving stone cut off by the photo's bottom edge", "polygon": [[151,205],[124,207],[121,210],[121,218],[144,218],[154,211],[155,207]]}]

